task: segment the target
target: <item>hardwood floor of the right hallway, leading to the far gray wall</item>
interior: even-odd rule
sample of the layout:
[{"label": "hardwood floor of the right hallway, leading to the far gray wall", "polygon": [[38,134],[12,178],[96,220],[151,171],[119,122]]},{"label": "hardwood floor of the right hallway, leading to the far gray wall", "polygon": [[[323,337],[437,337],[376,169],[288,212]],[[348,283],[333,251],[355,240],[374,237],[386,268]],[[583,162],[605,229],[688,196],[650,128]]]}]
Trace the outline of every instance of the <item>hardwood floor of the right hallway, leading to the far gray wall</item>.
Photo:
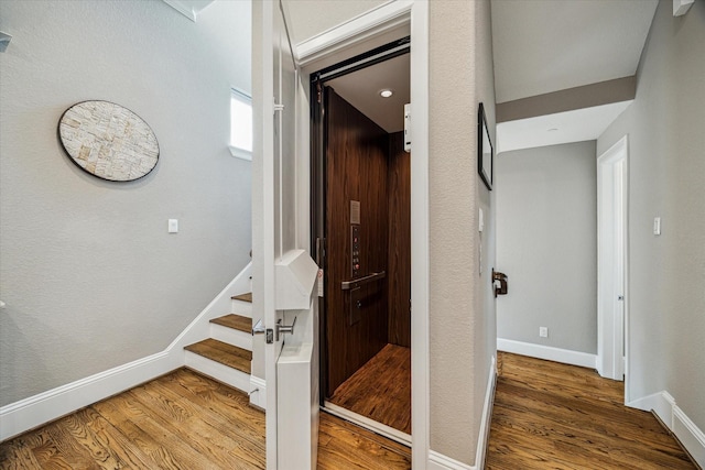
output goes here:
[{"label": "hardwood floor of the right hallway, leading to the far gray wall", "polygon": [[696,468],[652,414],[623,406],[622,382],[499,354],[486,469]]}]

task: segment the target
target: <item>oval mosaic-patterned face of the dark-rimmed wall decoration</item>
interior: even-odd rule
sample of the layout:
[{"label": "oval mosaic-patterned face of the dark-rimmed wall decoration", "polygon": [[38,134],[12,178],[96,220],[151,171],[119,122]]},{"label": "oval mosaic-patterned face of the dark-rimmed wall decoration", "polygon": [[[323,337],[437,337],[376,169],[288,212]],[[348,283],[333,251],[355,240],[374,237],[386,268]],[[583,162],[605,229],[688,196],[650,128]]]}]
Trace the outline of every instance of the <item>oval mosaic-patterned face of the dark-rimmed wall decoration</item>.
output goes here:
[{"label": "oval mosaic-patterned face of the dark-rimmed wall decoration", "polygon": [[66,153],[84,171],[111,182],[131,182],[159,161],[152,129],[127,108],[108,101],[83,101],[58,121]]}]

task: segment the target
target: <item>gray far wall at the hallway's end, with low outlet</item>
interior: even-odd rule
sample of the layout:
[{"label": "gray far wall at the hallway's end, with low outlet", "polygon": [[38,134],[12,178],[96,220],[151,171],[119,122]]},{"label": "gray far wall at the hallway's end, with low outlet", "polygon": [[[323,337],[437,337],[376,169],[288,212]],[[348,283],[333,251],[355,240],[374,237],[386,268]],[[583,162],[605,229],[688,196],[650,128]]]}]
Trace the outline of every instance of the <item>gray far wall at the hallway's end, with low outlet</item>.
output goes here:
[{"label": "gray far wall at the hallway's end, with low outlet", "polygon": [[509,276],[497,300],[499,338],[597,353],[595,144],[497,159],[497,266]]}]

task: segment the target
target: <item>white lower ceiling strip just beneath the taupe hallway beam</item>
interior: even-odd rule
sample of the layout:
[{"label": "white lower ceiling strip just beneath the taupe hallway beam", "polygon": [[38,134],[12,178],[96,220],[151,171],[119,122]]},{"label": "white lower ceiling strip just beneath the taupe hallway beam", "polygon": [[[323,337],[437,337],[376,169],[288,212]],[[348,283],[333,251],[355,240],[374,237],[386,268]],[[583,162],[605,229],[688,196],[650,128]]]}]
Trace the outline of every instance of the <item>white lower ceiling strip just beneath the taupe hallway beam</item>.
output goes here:
[{"label": "white lower ceiling strip just beneath the taupe hallway beam", "polygon": [[596,140],[632,101],[501,122],[497,124],[497,153]]}]

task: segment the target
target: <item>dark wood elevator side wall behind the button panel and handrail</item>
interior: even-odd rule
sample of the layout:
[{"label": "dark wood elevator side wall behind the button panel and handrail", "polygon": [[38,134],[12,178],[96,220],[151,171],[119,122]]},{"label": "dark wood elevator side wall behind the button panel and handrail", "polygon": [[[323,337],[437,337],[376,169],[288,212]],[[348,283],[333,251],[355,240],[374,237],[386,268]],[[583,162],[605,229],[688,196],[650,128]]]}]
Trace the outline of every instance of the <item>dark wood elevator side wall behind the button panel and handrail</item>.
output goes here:
[{"label": "dark wood elevator side wall behind the button panel and handrail", "polygon": [[[360,201],[361,275],[387,270],[387,133],[326,88],[326,396],[388,340],[387,280],[360,293],[359,319],[349,320],[350,200]],[[357,305],[357,304],[356,304]]]}]

